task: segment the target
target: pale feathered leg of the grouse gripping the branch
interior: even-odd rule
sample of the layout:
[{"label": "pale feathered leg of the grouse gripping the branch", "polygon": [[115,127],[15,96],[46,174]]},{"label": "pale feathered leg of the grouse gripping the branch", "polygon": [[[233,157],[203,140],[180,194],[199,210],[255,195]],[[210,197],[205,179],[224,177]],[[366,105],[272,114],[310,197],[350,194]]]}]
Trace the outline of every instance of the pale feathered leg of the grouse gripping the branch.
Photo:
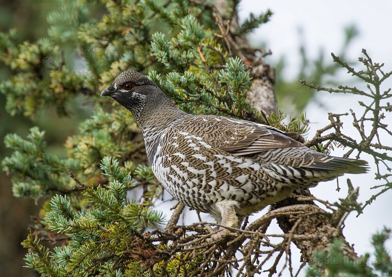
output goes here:
[{"label": "pale feathered leg of the grouse gripping the branch", "polygon": [[[215,207],[221,212],[221,222],[220,225],[231,228],[239,228],[240,219],[236,213],[235,208],[237,207],[237,202],[234,201],[222,201],[215,204]],[[213,239],[220,239],[230,233],[230,230],[224,227],[220,227],[219,231],[212,235]]]}]

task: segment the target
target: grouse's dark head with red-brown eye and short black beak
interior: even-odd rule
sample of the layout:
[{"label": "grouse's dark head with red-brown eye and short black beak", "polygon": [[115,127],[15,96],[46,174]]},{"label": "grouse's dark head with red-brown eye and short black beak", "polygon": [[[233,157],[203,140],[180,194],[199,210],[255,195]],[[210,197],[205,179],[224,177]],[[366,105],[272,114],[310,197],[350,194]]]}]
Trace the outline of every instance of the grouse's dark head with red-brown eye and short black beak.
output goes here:
[{"label": "grouse's dark head with red-brown eye and short black beak", "polygon": [[[137,117],[140,116],[150,98],[158,96],[161,90],[154,82],[137,71],[123,71],[111,87],[103,90],[101,96],[110,96]],[[151,97],[152,96],[152,97]]]}]

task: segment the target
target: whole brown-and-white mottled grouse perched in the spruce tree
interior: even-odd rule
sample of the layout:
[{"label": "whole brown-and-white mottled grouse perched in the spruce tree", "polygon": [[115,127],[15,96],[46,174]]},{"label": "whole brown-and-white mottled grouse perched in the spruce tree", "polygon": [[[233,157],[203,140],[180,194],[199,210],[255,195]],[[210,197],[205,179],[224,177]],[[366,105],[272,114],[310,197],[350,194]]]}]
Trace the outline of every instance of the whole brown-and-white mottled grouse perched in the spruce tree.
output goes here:
[{"label": "whole brown-and-white mottled grouse perched in the spruce tree", "polygon": [[328,156],[302,137],[269,125],[178,109],[150,79],[123,71],[101,92],[138,122],[152,172],[173,198],[211,214],[220,227],[239,228],[246,216],[290,196],[294,190],[360,174],[367,162]]}]

